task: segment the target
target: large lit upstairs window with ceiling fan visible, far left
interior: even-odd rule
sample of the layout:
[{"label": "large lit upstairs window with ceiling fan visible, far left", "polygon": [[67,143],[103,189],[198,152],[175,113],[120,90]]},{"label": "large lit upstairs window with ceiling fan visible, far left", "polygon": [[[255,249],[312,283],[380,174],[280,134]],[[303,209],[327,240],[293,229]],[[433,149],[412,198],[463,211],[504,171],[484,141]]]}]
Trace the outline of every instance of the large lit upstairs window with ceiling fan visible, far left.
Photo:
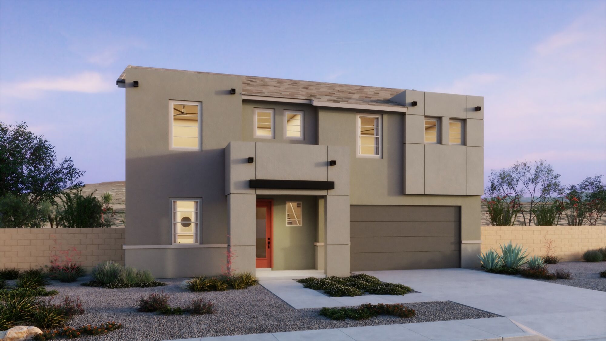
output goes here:
[{"label": "large lit upstairs window with ceiling fan visible, far left", "polygon": [[170,101],[171,148],[201,149],[199,102]]}]

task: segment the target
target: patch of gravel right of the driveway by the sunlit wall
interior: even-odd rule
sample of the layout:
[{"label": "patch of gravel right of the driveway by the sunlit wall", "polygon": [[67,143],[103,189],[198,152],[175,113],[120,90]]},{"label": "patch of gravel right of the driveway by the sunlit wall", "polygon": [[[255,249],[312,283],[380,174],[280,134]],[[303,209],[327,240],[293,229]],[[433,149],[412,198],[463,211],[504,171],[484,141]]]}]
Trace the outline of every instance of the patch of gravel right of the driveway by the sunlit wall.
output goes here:
[{"label": "patch of gravel right of the driveway by the sunlit wall", "polygon": [[606,270],[606,262],[559,262],[548,264],[549,272],[556,270],[570,271],[569,280],[541,280],[543,282],[576,286],[578,288],[606,291],[606,278],[600,277],[600,272]]}]

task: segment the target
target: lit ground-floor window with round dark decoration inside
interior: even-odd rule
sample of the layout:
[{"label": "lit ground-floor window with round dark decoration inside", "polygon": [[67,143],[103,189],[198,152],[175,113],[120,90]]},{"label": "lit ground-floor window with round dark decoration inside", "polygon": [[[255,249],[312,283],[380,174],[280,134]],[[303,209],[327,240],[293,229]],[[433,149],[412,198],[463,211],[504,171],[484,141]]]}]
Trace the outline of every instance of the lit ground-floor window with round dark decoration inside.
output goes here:
[{"label": "lit ground-floor window with round dark decoration inside", "polygon": [[173,244],[199,243],[200,200],[173,199]]}]

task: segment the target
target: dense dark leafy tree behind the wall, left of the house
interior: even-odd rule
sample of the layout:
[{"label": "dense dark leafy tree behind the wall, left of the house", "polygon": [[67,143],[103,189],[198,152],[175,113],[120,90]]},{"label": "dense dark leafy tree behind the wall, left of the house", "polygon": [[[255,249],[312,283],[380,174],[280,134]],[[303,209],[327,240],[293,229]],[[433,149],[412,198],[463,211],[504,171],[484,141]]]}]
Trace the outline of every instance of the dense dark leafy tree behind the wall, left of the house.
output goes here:
[{"label": "dense dark leafy tree behind the wall, left of the house", "polygon": [[[36,227],[39,204],[53,201],[68,187],[83,186],[78,181],[82,174],[72,158],[58,162],[54,147],[44,136],[27,130],[24,122],[16,126],[0,122],[0,198],[10,200],[12,210],[19,210],[21,218],[15,227]],[[7,209],[0,206],[0,215],[9,214]]]}]

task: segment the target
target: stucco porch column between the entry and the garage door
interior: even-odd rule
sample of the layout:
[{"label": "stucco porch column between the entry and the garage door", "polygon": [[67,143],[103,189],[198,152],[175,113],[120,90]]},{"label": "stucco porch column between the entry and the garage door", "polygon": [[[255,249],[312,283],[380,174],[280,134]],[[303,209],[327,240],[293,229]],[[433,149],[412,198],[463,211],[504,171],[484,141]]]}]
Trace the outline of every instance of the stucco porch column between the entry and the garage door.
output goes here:
[{"label": "stucco porch column between the entry and the garage door", "polygon": [[324,200],[324,273],[346,277],[350,272],[349,195]]}]

